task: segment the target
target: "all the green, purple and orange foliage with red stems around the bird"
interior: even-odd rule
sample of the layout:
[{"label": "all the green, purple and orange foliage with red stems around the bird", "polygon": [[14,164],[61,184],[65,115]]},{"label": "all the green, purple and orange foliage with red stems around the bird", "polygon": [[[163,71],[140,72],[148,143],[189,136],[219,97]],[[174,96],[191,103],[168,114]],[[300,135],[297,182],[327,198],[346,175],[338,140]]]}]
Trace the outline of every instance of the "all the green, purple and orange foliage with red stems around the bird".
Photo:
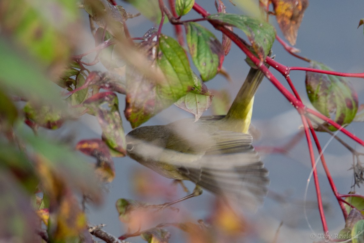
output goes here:
[{"label": "all the green, purple and orange foliage with red stems around the bird", "polygon": [[[277,32],[266,21],[269,15],[274,11],[283,35],[294,45],[308,1],[275,0],[270,6],[270,1],[261,0],[266,20],[226,13],[221,0],[215,3],[217,13],[211,15],[192,0],[169,1],[169,7],[158,0],[130,3],[158,24],[158,29],[145,29],[144,36],[131,37],[133,29],[127,28],[128,19],[137,15],[114,6],[111,0],[0,2],[0,241],[39,242],[41,237],[46,242],[92,242],[90,233],[105,242],[115,240],[100,227],[88,224],[85,206],[102,202],[103,183],[116,176],[112,158],[127,155],[123,116],[135,128],[175,104],[192,113],[197,121],[213,102],[213,93],[217,98],[213,108],[222,113],[227,106],[226,94],[209,90],[205,82],[225,72],[222,65],[232,42],[246,54],[248,65],[260,69],[301,115],[323,231],[328,235],[310,132],[319,153],[315,130],[330,133],[340,129],[364,146],[363,140],[343,128],[353,120],[363,121],[363,107],[351,84],[339,77],[355,75],[335,72],[300,57],[280,39],[292,55],[310,61],[310,67],[290,68],[269,57]],[[189,19],[192,11],[202,19]],[[76,55],[82,47],[79,37],[85,29],[80,23],[85,14],[89,16],[95,48]],[[181,20],[182,16],[186,20]],[[200,20],[209,27],[197,23]],[[177,38],[163,33],[163,24],[168,22],[175,27]],[[181,26],[185,27],[186,47]],[[222,32],[222,42],[213,29]],[[93,60],[87,62],[90,56]],[[264,62],[286,78],[293,93],[262,65]],[[307,94],[318,112],[307,108],[296,93],[289,77],[292,70],[306,71]],[[120,112],[120,99],[125,99],[124,113]],[[68,126],[68,122],[86,114],[98,121],[100,138],[73,141],[71,136],[59,138],[52,133],[55,131],[46,132]],[[364,181],[360,154],[349,150],[357,158],[353,171],[359,186]],[[80,152],[96,162],[90,163]],[[363,210],[364,197],[354,192],[340,194],[324,156],[320,156],[345,218],[339,236],[362,242],[364,219],[359,211]],[[154,214],[155,208],[174,210],[165,207],[119,199],[116,209],[120,220],[135,230],[119,238],[140,236],[147,242],[168,242],[168,227],[184,231],[190,242],[240,239],[246,233],[248,222],[223,203],[217,203],[211,212],[209,225],[202,221],[176,222],[140,228],[137,219]]]}]

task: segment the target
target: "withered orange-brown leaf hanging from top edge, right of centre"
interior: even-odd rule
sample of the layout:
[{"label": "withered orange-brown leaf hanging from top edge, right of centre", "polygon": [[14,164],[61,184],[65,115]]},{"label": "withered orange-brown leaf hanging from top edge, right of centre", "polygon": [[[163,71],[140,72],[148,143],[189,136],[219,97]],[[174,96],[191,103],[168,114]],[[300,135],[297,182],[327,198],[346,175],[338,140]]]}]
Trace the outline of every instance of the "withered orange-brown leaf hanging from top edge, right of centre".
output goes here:
[{"label": "withered orange-brown leaf hanging from top edge, right of centre", "polygon": [[272,0],[272,3],[284,37],[291,45],[295,45],[308,0]]}]

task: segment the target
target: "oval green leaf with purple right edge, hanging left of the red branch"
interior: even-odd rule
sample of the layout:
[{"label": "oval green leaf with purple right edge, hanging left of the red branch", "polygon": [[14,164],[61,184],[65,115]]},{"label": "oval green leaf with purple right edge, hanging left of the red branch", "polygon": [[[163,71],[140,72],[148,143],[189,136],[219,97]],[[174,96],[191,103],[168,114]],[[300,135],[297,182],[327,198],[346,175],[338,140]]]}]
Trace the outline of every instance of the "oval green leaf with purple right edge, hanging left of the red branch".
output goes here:
[{"label": "oval green leaf with purple right edge, hanging left of the red branch", "polygon": [[186,40],[193,63],[201,74],[202,80],[216,76],[224,60],[224,51],[215,35],[200,24],[185,24]]}]

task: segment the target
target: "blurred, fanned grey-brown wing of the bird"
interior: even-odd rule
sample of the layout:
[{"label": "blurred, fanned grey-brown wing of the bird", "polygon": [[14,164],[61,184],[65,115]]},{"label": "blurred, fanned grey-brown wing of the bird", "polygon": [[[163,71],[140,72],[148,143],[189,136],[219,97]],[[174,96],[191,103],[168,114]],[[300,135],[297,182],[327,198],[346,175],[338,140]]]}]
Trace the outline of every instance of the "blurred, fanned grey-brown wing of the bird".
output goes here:
[{"label": "blurred, fanned grey-brown wing of the bird", "polygon": [[178,170],[189,180],[217,195],[255,210],[263,202],[269,184],[268,170],[254,150],[252,137],[229,131],[211,135],[215,141],[193,163]]}]

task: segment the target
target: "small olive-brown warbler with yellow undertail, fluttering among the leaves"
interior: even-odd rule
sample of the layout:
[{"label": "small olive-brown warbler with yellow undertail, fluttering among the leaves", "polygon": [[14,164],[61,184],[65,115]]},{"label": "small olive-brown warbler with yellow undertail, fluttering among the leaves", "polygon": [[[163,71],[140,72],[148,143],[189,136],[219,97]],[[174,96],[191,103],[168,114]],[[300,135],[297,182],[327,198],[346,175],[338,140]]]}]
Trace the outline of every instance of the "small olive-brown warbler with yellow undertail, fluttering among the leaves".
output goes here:
[{"label": "small olive-brown warbler with yellow undertail, fluttering among the leaves", "polygon": [[259,69],[250,69],[226,116],[132,130],[126,136],[128,156],[162,176],[196,184],[191,195],[175,202],[197,196],[205,188],[256,210],[267,194],[269,179],[248,130],[263,77]]}]

